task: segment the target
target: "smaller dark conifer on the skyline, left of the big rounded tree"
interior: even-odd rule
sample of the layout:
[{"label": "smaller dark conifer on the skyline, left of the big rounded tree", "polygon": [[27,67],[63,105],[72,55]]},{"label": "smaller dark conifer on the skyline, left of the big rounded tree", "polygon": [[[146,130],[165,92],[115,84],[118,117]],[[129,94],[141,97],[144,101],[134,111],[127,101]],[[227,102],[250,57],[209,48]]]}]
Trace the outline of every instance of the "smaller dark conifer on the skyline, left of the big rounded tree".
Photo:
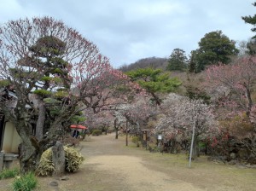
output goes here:
[{"label": "smaller dark conifer on the skyline, left of the big rounded tree", "polygon": [[184,71],[187,68],[187,56],[183,49],[173,49],[172,55],[168,59],[166,70]]}]

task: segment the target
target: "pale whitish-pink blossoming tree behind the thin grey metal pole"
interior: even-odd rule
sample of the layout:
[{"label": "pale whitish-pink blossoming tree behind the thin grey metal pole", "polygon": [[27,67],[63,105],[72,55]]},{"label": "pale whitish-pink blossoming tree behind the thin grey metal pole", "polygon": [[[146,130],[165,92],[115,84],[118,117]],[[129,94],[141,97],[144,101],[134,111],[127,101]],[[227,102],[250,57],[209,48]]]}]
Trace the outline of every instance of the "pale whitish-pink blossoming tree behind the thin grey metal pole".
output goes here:
[{"label": "pale whitish-pink blossoming tree behind the thin grey metal pole", "polygon": [[187,97],[170,94],[163,102],[162,113],[163,117],[155,130],[163,133],[167,140],[179,143],[191,140],[195,126],[195,142],[191,146],[194,159],[199,154],[200,139],[210,137],[218,130],[212,108],[201,100],[189,100]]}]

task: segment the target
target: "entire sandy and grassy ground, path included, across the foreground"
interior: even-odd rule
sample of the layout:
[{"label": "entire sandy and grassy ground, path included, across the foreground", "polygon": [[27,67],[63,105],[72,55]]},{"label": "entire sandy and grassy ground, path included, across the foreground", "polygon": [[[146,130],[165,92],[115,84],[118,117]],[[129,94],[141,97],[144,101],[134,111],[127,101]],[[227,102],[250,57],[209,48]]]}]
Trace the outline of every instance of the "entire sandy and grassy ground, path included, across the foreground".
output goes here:
[{"label": "entire sandy and grassy ground, path included, across the foreground", "polygon": [[[207,161],[202,156],[188,167],[185,154],[149,153],[125,136],[91,136],[77,147],[84,164],[74,174],[40,177],[38,190],[60,191],[253,191],[256,169]],[[1,180],[9,190],[13,180]],[[57,186],[50,186],[55,182]]]}]

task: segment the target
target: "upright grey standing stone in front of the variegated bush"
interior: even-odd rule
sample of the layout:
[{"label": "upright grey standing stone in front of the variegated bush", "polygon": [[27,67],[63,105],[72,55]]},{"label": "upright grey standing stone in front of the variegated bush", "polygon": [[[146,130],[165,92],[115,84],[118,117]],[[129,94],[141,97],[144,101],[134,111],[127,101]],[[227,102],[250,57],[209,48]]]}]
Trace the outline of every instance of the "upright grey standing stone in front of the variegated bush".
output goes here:
[{"label": "upright grey standing stone in front of the variegated bush", "polygon": [[55,176],[61,176],[65,172],[65,151],[61,142],[56,142],[52,147],[52,162],[55,165]]}]

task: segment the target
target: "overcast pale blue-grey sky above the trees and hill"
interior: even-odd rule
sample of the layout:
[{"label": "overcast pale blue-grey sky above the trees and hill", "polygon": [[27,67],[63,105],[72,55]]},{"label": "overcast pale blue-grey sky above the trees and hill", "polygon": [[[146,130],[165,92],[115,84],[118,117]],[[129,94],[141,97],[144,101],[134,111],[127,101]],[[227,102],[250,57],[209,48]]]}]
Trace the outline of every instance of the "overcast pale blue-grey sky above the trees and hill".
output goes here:
[{"label": "overcast pale blue-grey sky above the trees and hill", "polygon": [[113,67],[147,57],[189,55],[208,32],[232,40],[253,37],[241,16],[254,15],[251,0],[0,0],[0,25],[52,16],[96,43]]}]

